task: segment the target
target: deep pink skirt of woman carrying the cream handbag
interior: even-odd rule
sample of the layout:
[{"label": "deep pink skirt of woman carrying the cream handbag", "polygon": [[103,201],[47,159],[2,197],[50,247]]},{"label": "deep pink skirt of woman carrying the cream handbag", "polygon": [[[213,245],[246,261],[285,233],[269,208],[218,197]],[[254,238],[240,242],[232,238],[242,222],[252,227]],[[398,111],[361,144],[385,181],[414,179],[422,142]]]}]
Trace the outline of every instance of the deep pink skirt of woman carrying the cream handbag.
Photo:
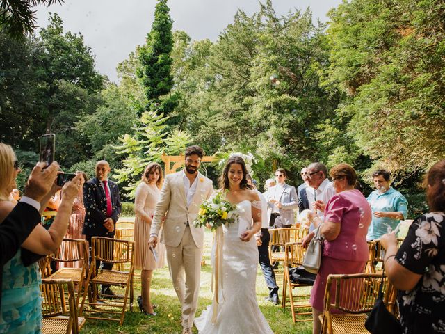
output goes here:
[{"label": "deep pink skirt of woman carrying the cream handbag", "polygon": [[[315,279],[314,287],[312,287],[311,298],[309,302],[312,308],[323,312],[323,301],[325,298],[325,289],[327,283],[327,276],[333,274],[350,274],[350,273],[362,273],[366,261],[351,261],[351,260],[337,260],[332,257],[321,257],[320,271]],[[331,286],[332,303],[334,302],[335,286]],[[336,313],[336,310],[332,310],[332,313]]]}]

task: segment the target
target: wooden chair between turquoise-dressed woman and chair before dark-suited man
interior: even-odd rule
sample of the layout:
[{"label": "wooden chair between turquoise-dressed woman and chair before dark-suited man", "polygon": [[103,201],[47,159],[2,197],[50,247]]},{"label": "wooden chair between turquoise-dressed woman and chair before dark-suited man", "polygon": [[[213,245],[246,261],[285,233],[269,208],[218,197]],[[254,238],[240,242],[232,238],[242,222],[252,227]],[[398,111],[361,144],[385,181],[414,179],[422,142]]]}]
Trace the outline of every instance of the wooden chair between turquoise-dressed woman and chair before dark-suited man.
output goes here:
[{"label": "wooden chair between turquoise-dressed woman and chair before dark-suited man", "polygon": [[88,276],[88,246],[83,239],[63,239],[56,253],[48,255],[49,260],[60,263],[76,263],[79,268],[63,267],[49,276],[52,280],[72,280],[78,286],[76,304],[79,306],[82,288],[86,287]]}]

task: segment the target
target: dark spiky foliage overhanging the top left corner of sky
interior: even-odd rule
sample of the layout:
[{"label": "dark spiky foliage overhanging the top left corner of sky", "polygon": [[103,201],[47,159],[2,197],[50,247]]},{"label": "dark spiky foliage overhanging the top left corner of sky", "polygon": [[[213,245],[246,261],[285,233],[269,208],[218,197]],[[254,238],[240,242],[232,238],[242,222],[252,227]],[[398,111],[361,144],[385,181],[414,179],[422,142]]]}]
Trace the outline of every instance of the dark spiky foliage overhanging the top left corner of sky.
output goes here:
[{"label": "dark spiky foliage overhanging the top left corner of sky", "polygon": [[10,37],[18,40],[26,33],[32,34],[35,26],[35,6],[51,6],[63,0],[2,0],[0,2],[0,26],[3,26]]}]

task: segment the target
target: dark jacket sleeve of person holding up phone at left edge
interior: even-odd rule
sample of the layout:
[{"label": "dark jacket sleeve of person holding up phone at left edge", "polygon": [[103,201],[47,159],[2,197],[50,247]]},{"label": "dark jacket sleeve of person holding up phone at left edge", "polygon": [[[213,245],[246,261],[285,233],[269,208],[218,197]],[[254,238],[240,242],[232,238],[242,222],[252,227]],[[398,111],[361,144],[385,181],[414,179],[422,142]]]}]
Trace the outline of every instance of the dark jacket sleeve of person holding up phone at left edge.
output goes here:
[{"label": "dark jacket sleeve of person holding up phone at left edge", "polygon": [[[19,202],[0,223],[0,257],[1,270],[3,264],[8,262],[19,247],[23,244],[35,226],[40,223],[40,214],[32,205]],[[0,275],[0,302],[3,275]],[[1,307],[1,305],[0,305]]]}]

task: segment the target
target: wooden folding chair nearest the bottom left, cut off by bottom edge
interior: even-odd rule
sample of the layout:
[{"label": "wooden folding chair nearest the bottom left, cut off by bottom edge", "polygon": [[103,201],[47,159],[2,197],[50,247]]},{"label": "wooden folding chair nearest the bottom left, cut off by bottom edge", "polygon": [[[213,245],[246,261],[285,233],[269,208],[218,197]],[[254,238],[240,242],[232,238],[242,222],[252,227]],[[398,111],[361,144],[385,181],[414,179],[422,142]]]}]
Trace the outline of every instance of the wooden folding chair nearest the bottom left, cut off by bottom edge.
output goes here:
[{"label": "wooden folding chair nearest the bottom left, cut off by bottom edge", "polygon": [[44,278],[40,290],[42,292],[42,333],[79,333],[85,324],[85,318],[78,316],[72,280]]}]

